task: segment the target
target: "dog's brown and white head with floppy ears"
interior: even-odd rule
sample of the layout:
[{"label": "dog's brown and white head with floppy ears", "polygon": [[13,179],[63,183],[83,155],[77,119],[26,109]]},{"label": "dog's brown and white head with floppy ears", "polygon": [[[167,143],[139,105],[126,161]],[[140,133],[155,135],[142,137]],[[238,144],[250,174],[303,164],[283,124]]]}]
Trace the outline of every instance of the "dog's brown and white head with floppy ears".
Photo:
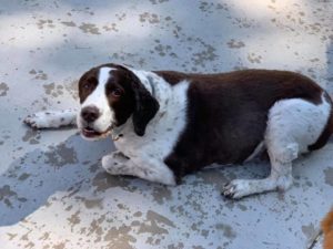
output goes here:
[{"label": "dog's brown and white head with floppy ears", "polygon": [[85,72],[79,80],[81,110],[78,127],[84,138],[98,139],[131,116],[137,135],[159,110],[158,101],[128,68],[105,64]]}]

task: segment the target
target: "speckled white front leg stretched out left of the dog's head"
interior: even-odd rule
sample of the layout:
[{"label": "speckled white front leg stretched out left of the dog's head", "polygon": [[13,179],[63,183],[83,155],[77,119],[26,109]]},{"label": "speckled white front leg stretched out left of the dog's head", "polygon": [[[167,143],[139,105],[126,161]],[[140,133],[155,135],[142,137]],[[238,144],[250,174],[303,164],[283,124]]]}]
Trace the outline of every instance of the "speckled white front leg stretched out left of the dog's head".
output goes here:
[{"label": "speckled white front leg stretched out left of the dog's head", "polygon": [[77,111],[46,111],[28,115],[23,122],[32,128],[59,128],[77,125]]}]

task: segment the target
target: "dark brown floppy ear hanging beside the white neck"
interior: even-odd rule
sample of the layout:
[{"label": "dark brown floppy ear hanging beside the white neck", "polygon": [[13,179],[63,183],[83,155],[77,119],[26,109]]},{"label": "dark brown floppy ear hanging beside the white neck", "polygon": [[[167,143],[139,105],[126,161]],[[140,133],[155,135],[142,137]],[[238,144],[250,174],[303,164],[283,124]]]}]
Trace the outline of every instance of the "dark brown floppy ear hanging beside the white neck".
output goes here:
[{"label": "dark brown floppy ear hanging beside the white neck", "polygon": [[133,112],[134,132],[137,135],[143,136],[145,126],[159,111],[160,104],[134,74],[132,75],[132,90],[135,98]]}]

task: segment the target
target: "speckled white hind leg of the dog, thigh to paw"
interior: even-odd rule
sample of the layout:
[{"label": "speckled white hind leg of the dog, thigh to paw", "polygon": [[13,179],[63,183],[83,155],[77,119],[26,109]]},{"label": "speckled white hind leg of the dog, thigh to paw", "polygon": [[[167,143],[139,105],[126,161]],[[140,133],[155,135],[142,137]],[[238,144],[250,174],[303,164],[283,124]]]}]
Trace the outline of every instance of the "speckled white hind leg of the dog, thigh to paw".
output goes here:
[{"label": "speckled white hind leg of the dog, thigh to paw", "polygon": [[322,96],[314,105],[301,98],[276,102],[269,113],[264,143],[271,159],[271,175],[265,179],[234,179],[223,194],[233,198],[287,189],[293,181],[292,162],[314,144],[330,117],[331,106]]}]

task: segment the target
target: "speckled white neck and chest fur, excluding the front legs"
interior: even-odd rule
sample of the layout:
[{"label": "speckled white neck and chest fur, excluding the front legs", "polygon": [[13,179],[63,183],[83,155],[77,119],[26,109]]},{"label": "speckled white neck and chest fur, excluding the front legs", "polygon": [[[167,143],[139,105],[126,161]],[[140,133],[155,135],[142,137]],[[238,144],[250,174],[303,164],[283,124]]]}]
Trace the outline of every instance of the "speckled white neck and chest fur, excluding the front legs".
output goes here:
[{"label": "speckled white neck and chest fur, excluding the front legs", "polygon": [[115,142],[115,146],[128,156],[135,157],[140,152],[163,159],[173,148],[186,123],[189,82],[171,86],[154,73],[135,73],[150,92],[154,91],[160,110],[148,124],[143,137],[134,134],[132,121],[129,120],[122,131],[124,136]]}]

